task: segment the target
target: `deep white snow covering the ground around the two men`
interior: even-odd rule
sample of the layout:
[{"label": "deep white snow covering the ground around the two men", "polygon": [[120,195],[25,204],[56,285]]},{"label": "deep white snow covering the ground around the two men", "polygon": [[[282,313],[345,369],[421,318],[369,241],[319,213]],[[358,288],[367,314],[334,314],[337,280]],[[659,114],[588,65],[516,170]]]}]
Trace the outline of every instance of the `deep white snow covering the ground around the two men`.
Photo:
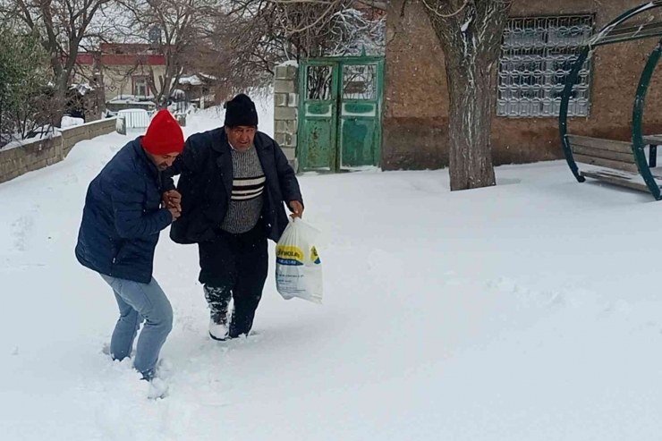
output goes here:
[{"label": "deep white snow covering the ground around the two men", "polygon": [[301,176],[325,303],[271,276],[259,334],[228,343],[208,338],[196,248],[164,233],[170,393],[148,400],[102,353],[115,299],[73,256],[88,183],[129,139],[0,185],[3,441],[659,439],[662,205],[562,162],[454,193],[446,171]]}]

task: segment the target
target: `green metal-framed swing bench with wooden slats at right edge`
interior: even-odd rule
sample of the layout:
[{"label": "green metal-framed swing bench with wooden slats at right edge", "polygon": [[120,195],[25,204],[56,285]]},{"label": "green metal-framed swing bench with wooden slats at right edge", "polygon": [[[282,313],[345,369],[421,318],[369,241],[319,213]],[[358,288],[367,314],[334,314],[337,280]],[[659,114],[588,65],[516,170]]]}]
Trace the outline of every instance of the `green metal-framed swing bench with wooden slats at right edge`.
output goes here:
[{"label": "green metal-framed swing bench with wooden slats at right edge", "polygon": [[[577,61],[565,80],[559,111],[559,132],[565,160],[578,182],[587,177],[622,185],[634,190],[649,191],[657,200],[662,199],[662,172],[656,170],[658,145],[662,136],[643,134],[643,109],[650,79],[662,56],[662,39],[653,49],[649,61],[641,72],[637,94],[632,109],[632,142],[603,140],[568,133],[568,108],[579,73],[586,60],[598,47],[662,36],[662,22],[635,23],[632,18],[662,6],[662,0],[654,0],[633,8],[607,24],[581,50]],[[644,149],[649,147],[649,157]],[[589,165],[581,170],[577,163]],[[660,180],[658,182],[658,179]]]}]

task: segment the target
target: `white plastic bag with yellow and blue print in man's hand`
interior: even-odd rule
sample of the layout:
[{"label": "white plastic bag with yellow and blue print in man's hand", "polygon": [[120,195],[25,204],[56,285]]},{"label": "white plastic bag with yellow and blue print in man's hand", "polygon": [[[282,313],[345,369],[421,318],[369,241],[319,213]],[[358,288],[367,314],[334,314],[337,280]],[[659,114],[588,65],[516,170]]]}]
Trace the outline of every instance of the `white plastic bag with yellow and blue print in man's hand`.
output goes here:
[{"label": "white plastic bag with yellow and blue print in man's hand", "polygon": [[276,245],[276,290],[285,300],[322,302],[322,262],[313,245],[318,233],[295,218]]}]

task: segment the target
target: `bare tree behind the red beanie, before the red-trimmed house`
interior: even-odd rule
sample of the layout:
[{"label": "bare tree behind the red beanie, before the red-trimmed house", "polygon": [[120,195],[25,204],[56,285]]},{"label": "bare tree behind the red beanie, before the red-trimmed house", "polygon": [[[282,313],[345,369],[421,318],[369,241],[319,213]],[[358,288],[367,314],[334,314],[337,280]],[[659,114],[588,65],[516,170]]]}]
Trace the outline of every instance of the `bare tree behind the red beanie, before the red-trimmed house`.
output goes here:
[{"label": "bare tree behind the red beanie, before the red-trimmed house", "polygon": [[149,89],[157,106],[164,107],[177,83],[193,60],[198,58],[199,40],[208,35],[212,17],[218,13],[217,0],[122,0],[125,13],[118,23],[126,41],[148,42],[165,56],[165,71],[141,62],[149,72]]}]

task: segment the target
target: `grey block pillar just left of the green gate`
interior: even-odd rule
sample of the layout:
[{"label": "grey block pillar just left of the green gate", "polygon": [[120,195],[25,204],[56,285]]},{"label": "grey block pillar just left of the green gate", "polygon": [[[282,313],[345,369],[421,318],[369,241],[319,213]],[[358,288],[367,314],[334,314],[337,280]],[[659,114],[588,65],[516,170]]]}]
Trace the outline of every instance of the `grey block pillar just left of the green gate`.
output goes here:
[{"label": "grey block pillar just left of the green gate", "polygon": [[274,82],[274,139],[283,148],[284,154],[293,166],[298,168],[296,158],[299,82],[298,68],[293,65],[276,66]]}]

